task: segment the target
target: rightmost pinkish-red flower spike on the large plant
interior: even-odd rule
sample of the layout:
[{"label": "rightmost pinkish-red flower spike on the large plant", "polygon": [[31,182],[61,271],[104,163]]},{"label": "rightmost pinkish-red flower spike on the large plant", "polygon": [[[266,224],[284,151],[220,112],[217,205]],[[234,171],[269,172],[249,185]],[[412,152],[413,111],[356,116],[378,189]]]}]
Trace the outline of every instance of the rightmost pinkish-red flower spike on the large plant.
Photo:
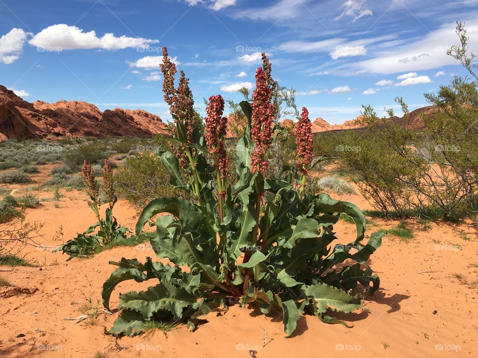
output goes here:
[{"label": "rightmost pinkish-red flower spike on the large plant", "polygon": [[302,108],[299,122],[295,126],[295,144],[297,146],[297,167],[302,175],[307,175],[308,167],[314,156],[314,136],[312,124],[309,119],[309,111]]}]

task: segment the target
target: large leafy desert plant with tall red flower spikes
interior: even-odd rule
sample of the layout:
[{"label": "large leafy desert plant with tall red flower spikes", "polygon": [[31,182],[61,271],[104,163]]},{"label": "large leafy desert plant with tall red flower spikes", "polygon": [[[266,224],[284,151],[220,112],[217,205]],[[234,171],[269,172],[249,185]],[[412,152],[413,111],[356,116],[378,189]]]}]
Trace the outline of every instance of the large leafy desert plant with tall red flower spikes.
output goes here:
[{"label": "large leafy desert plant with tall red flower spikes", "polygon": [[[284,180],[264,176],[270,143],[274,134],[282,131],[271,125],[270,71],[257,69],[252,102],[240,103],[247,125],[236,149],[236,178],[229,180],[224,99],[210,97],[205,134],[195,130],[188,115],[193,105],[188,81],[181,73],[175,89],[176,67],[166,49],[163,56],[163,89],[174,118],[173,135],[180,145],[179,158],[169,151],[158,155],[171,185],[191,192],[193,199],[157,198],[142,211],[136,235],[151,219],[165,214],[156,218],[156,235],[150,243],[158,258],[168,258],[174,266],[151,258],[144,264],[125,258],[111,262],[118,269],[102,291],[109,310],[119,282],[159,282],[145,291],[120,294],[120,315],[110,333],[134,335],[143,331],[147,322],[168,318],[185,320],[194,329],[200,317],[212,309],[239,301],[242,306],[258,306],[263,314],[273,308],[283,311],[287,335],[295,331],[305,312],[324,322],[343,323],[327,311],[358,309],[360,297],[348,293],[358,283],[368,286],[372,282],[371,292],[378,288],[378,276],[362,265],[380,245],[383,233],[371,234],[364,243],[365,218],[356,205],[303,190],[303,175],[314,165],[311,155],[304,157],[299,169],[284,168]],[[298,143],[304,146],[301,151],[310,154],[312,137],[305,108],[301,121],[304,129],[296,133],[301,136]],[[181,166],[182,160],[189,165]],[[337,240],[332,227],[342,212],[354,219],[357,237],[331,249],[329,245]],[[190,270],[185,272],[179,266]]]}]

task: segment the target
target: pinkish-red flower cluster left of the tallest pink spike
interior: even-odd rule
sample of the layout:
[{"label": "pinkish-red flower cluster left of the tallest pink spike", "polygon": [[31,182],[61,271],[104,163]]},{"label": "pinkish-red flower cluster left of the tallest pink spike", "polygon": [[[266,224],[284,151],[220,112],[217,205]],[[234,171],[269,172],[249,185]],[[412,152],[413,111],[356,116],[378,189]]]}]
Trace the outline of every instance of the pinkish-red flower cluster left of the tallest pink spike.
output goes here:
[{"label": "pinkish-red flower cluster left of the tallest pink spike", "polygon": [[223,117],[224,98],[221,95],[209,97],[206,107],[206,143],[210,152],[219,157],[219,172],[221,179],[225,179],[229,169],[229,158],[224,146],[224,138],[228,126],[228,118]]}]

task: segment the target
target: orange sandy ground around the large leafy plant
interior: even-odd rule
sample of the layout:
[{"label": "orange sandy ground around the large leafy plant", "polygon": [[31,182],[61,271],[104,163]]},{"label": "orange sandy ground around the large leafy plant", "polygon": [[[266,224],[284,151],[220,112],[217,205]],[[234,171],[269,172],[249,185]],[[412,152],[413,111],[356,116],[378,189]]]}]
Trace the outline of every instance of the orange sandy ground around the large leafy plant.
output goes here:
[{"label": "orange sandy ground around the large leafy plant", "polygon": [[[46,173],[46,170],[45,170]],[[41,177],[41,174],[39,177]],[[38,178],[40,179],[40,178]],[[19,186],[24,189],[24,186]],[[52,193],[37,193],[49,197]],[[23,254],[40,267],[17,267],[0,276],[21,288],[38,288],[33,294],[0,298],[1,357],[478,357],[478,288],[464,283],[478,279],[478,240],[467,226],[432,224],[428,231],[409,222],[415,238],[408,243],[387,236],[370,260],[381,279],[375,294],[365,293],[368,311],[338,316],[353,328],[327,325],[313,316],[301,317],[298,329],[285,338],[281,315],[264,316],[251,308],[234,306],[227,312],[210,314],[208,323],[189,332],[185,326],[168,332],[134,338],[115,339],[104,334],[118,313],[102,314],[96,324],[65,320],[81,315],[78,308],[92,297],[100,300],[103,282],[114,267],[109,261],[121,257],[144,261],[154,257],[148,245],[116,248],[91,259],[74,259],[51,253],[62,242],[82,232],[95,221],[84,202],[85,194],[65,192],[55,207],[52,201],[27,210],[27,219],[44,223],[38,240],[43,248],[26,248]],[[347,199],[343,197],[342,199]],[[350,201],[369,208],[363,198],[352,195]],[[134,210],[120,200],[115,207],[119,222],[130,228]],[[374,220],[367,234],[388,228],[397,222]],[[335,227],[338,237],[349,243],[354,226],[343,222]],[[471,241],[460,237],[464,230]],[[459,280],[455,274],[464,278]],[[146,283],[146,286],[148,284]],[[126,281],[112,295],[112,307],[119,292],[146,286]],[[0,288],[0,294],[9,287]],[[101,305],[100,305],[101,307]],[[267,344],[263,347],[264,331]]]}]

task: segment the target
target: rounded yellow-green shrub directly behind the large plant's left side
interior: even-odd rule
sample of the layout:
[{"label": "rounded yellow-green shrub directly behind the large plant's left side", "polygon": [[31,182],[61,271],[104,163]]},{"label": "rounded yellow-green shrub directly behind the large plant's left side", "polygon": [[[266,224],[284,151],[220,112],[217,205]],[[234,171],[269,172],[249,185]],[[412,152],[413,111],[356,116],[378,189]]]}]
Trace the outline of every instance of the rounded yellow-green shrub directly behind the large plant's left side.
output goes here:
[{"label": "rounded yellow-green shrub directly behind the large plant's left side", "polygon": [[118,193],[136,208],[156,197],[177,196],[180,190],[169,184],[169,175],[160,158],[143,152],[128,157],[115,173]]}]

